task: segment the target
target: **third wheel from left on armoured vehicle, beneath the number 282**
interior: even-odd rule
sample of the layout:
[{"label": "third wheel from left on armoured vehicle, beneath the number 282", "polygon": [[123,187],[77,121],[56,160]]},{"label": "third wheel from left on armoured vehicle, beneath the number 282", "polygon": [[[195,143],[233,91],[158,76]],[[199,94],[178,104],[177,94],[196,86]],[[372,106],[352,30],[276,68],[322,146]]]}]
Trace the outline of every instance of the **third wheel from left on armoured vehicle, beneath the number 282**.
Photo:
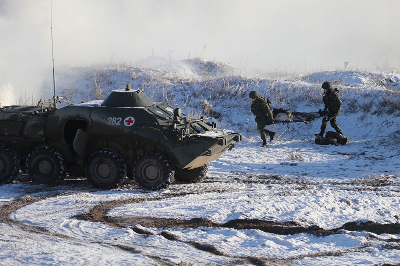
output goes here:
[{"label": "third wheel from left on armoured vehicle, beneath the number 282", "polygon": [[86,176],[96,188],[113,189],[122,185],[126,164],[118,152],[100,149],[87,159]]}]

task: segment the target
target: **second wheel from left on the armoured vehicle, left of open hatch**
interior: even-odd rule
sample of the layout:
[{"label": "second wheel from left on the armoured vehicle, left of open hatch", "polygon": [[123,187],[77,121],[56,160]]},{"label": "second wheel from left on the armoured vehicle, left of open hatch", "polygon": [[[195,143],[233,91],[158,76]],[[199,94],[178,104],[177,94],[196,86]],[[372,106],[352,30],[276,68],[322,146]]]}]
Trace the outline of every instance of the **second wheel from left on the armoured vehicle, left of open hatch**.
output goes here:
[{"label": "second wheel from left on the armoured vehicle, left of open hatch", "polygon": [[66,175],[64,157],[58,149],[50,146],[37,147],[30,152],[25,168],[30,179],[38,183],[54,183]]}]

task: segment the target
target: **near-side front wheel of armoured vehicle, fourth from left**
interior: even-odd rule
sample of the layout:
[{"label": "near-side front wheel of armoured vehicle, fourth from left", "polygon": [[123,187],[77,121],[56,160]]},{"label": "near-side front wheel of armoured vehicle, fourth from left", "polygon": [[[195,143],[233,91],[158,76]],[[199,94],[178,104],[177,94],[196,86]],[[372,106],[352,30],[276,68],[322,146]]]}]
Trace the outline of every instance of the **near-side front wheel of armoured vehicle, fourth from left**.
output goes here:
[{"label": "near-side front wheel of armoured vehicle, fourth from left", "polygon": [[157,152],[142,153],[133,167],[134,183],[145,190],[167,188],[174,181],[174,167]]}]

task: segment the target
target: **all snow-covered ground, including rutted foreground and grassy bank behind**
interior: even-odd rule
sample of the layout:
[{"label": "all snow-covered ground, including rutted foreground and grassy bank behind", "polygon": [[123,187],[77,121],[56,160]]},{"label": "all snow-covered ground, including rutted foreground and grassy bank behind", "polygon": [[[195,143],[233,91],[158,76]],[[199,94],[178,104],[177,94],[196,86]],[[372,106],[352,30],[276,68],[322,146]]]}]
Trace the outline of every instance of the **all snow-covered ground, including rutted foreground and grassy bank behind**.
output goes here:
[{"label": "all snow-covered ground, including rutted foreground and grassy bank behind", "polygon": [[[282,79],[220,62],[150,63],[65,69],[58,87],[77,103],[128,80],[154,101],[212,115],[243,141],[211,162],[201,183],[167,190],[104,191],[85,179],[37,185],[23,175],[0,186],[2,265],[400,264],[400,74]],[[273,107],[316,111],[326,80],[340,91],[346,145],[315,145],[316,120],[275,124],[275,140],[258,147],[250,90]]]}]

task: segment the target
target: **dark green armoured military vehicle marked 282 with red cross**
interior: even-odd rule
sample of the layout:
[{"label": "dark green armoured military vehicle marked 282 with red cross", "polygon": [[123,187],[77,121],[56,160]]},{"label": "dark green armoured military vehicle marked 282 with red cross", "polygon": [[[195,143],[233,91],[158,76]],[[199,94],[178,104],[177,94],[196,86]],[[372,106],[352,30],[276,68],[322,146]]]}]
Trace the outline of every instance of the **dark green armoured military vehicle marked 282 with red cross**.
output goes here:
[{"label": "dark green armoured military vehicle marked 282 with red cross", "polygon": [[[0,107],[0,182],[19,169],[32,181],[54,183],[86,176],[97,188],[115,188],[125,176],[159,190],[174,179],[197,182],[208,162],[242,136],[192,120],[180,108],[153,103],[142,90],[112,91],[104,101],[56,108]],[[58,100],[58,99],[57,99]],[[54,108],[55,107],[55,108]]]}]

